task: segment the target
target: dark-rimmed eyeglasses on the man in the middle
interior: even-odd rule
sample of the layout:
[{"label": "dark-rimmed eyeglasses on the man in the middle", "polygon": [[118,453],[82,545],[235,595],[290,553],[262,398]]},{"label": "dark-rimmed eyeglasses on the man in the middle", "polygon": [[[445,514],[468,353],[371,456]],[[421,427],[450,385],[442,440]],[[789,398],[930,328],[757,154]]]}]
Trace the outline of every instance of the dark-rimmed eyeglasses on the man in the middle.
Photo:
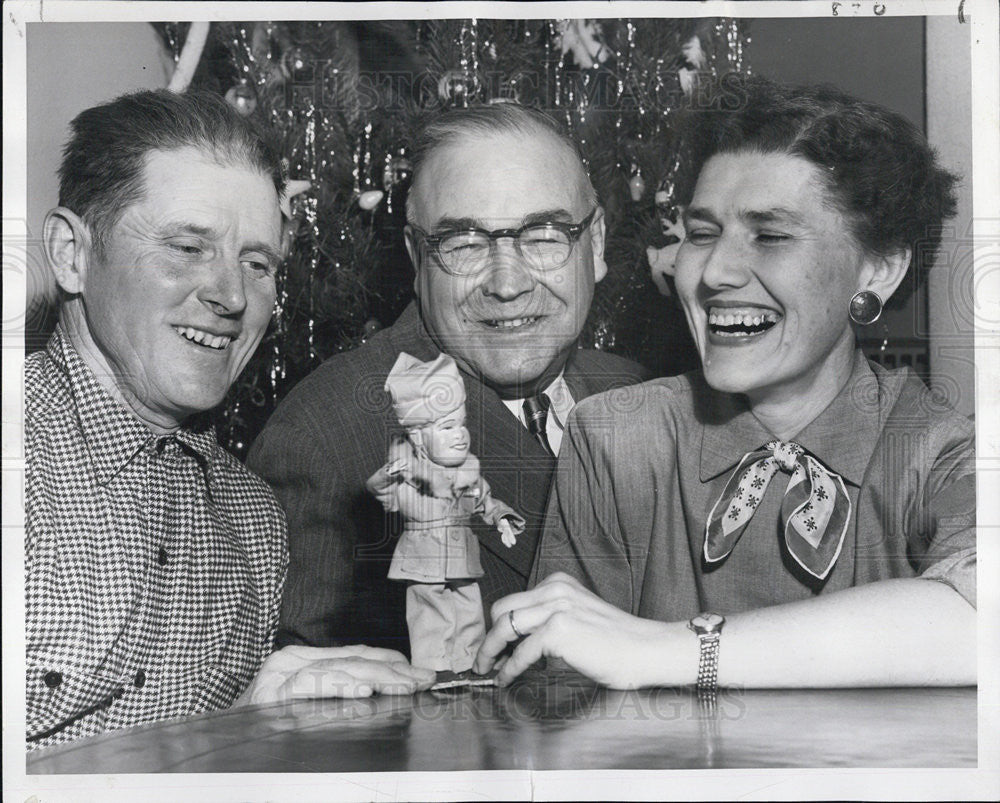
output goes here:
[{"label": "dark-rimmed eyeglasses on the man in the middle", "polygon": [[591,210],[579,223],[529,223],[519,229],[468,228],[428,234],[419,226],[410,228],[426,244],[438,264],[453,276],[475,276],[493,258],[496,241],[510,237],[514,248],[534,270],[548,271],[561,268],[573,253],[573,246],[590,226],[597,208]]}]

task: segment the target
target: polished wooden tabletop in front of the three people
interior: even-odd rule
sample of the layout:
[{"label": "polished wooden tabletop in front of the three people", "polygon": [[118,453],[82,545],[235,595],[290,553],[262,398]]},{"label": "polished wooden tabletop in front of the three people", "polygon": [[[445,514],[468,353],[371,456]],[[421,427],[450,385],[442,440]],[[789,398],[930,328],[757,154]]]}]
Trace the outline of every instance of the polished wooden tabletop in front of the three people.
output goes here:
[{"label": "polished wooden tabletop in front of the three people", "polygon": [[975,767],[976,690],[618,692],[578,675],[508,689],[299,700],[28,754],[34,773]]}]

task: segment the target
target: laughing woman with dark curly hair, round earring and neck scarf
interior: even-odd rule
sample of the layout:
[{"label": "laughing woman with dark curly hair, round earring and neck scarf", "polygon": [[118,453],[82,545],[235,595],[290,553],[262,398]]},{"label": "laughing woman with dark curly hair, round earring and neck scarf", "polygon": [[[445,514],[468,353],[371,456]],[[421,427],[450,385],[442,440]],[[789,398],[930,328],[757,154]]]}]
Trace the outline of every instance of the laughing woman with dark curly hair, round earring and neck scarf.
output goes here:
[{"label": "laughing woman with dark curly hair, round earring and neck scarf", "polygon": [[741,89],[692,139],[675,278],[702,370],[577,406],[541,582],[479,653],[520,639],[501,683],[542,656],[616,688],[975,683],[973,427],[855,341],[955,178],[894,113]]}]

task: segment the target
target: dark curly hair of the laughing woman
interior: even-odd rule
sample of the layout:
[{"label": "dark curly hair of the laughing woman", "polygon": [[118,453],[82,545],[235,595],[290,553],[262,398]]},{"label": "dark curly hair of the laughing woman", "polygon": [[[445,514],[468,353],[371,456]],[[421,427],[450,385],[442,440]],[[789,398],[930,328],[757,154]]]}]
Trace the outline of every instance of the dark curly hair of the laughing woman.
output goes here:
[{"label": "dark curly hair of the laughing woman", "polygon": [[[927,267],[955,214],[958,178],[902,115],[828,86],[792,87],[730,74],[715,108],[685,121],[690,154],[679,184],[687,204],[702,166],[718,153],[787,153],[812,162],[857,242],[869,254],[912,249]],[[726,108],[726,107],[731,108]]]}]

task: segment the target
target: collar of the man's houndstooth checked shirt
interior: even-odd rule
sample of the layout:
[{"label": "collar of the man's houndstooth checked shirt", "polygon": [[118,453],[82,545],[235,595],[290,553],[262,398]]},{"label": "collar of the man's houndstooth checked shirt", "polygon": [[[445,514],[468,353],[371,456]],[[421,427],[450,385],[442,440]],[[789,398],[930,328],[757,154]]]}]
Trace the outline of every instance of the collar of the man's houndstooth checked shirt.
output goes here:
[{"label": "collar of the man's houndstooth checked shirt", "polygon": [[99,483],[110,482],[144,446],[169,437],[175,437],[207,464],[216,446],[215,433],[207,422],[182,427],[173,436],[156,435],[97,381],[61,325],[56,325],[46,353],[68,379],[80,432]]}]

